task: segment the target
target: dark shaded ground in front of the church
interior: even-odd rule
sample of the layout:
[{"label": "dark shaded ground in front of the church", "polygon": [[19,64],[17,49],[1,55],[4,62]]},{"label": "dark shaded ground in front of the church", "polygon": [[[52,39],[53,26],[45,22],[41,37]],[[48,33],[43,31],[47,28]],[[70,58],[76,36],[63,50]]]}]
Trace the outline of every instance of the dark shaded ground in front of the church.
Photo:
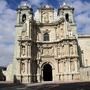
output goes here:
[{"label": "dark shaded ground in front of the church", "polygon": [[36,84],[2,86],[0,90],[90,90],[90,82],[43,82]]}]

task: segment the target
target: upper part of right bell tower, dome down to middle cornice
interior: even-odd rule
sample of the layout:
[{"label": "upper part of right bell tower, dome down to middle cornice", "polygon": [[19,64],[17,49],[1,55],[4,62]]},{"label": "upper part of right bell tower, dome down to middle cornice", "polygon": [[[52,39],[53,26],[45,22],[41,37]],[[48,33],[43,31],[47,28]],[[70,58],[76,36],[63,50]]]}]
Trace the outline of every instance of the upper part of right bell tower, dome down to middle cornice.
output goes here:
[{"label": "upper part of right bell tower, dome down to middle cornice", "polygon": [[66,2],[58,9],[58,16],[64,18],[64,35],[66,37],[77,37],[74,8]]}]

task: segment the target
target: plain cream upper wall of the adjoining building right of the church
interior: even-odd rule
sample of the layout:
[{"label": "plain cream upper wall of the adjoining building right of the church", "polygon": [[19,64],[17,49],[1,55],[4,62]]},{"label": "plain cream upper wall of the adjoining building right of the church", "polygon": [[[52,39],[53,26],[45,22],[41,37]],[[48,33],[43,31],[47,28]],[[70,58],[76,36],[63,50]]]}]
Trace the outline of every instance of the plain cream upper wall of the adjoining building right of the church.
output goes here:
[{"label": "plain cream upper wall of the adjoining building right of the church", "polygon": [[90,36],[88,35],[79,35],[78,43],[80,45],[80,53],[82,64],[84,67],[90,66]]}]

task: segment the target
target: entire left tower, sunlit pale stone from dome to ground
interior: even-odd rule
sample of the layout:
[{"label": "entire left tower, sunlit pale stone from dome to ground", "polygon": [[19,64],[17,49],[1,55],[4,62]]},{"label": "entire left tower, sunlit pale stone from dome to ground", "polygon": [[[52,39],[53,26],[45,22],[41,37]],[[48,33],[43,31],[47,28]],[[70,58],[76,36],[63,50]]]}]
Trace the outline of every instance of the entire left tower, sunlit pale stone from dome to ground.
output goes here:
[{"label": "entire left tower, sunlit pale stone from dome to ground", "polygon": [[14,50],[14,81],[30,83],[33,9],[22,2],[17,9],[16,41]]}]

